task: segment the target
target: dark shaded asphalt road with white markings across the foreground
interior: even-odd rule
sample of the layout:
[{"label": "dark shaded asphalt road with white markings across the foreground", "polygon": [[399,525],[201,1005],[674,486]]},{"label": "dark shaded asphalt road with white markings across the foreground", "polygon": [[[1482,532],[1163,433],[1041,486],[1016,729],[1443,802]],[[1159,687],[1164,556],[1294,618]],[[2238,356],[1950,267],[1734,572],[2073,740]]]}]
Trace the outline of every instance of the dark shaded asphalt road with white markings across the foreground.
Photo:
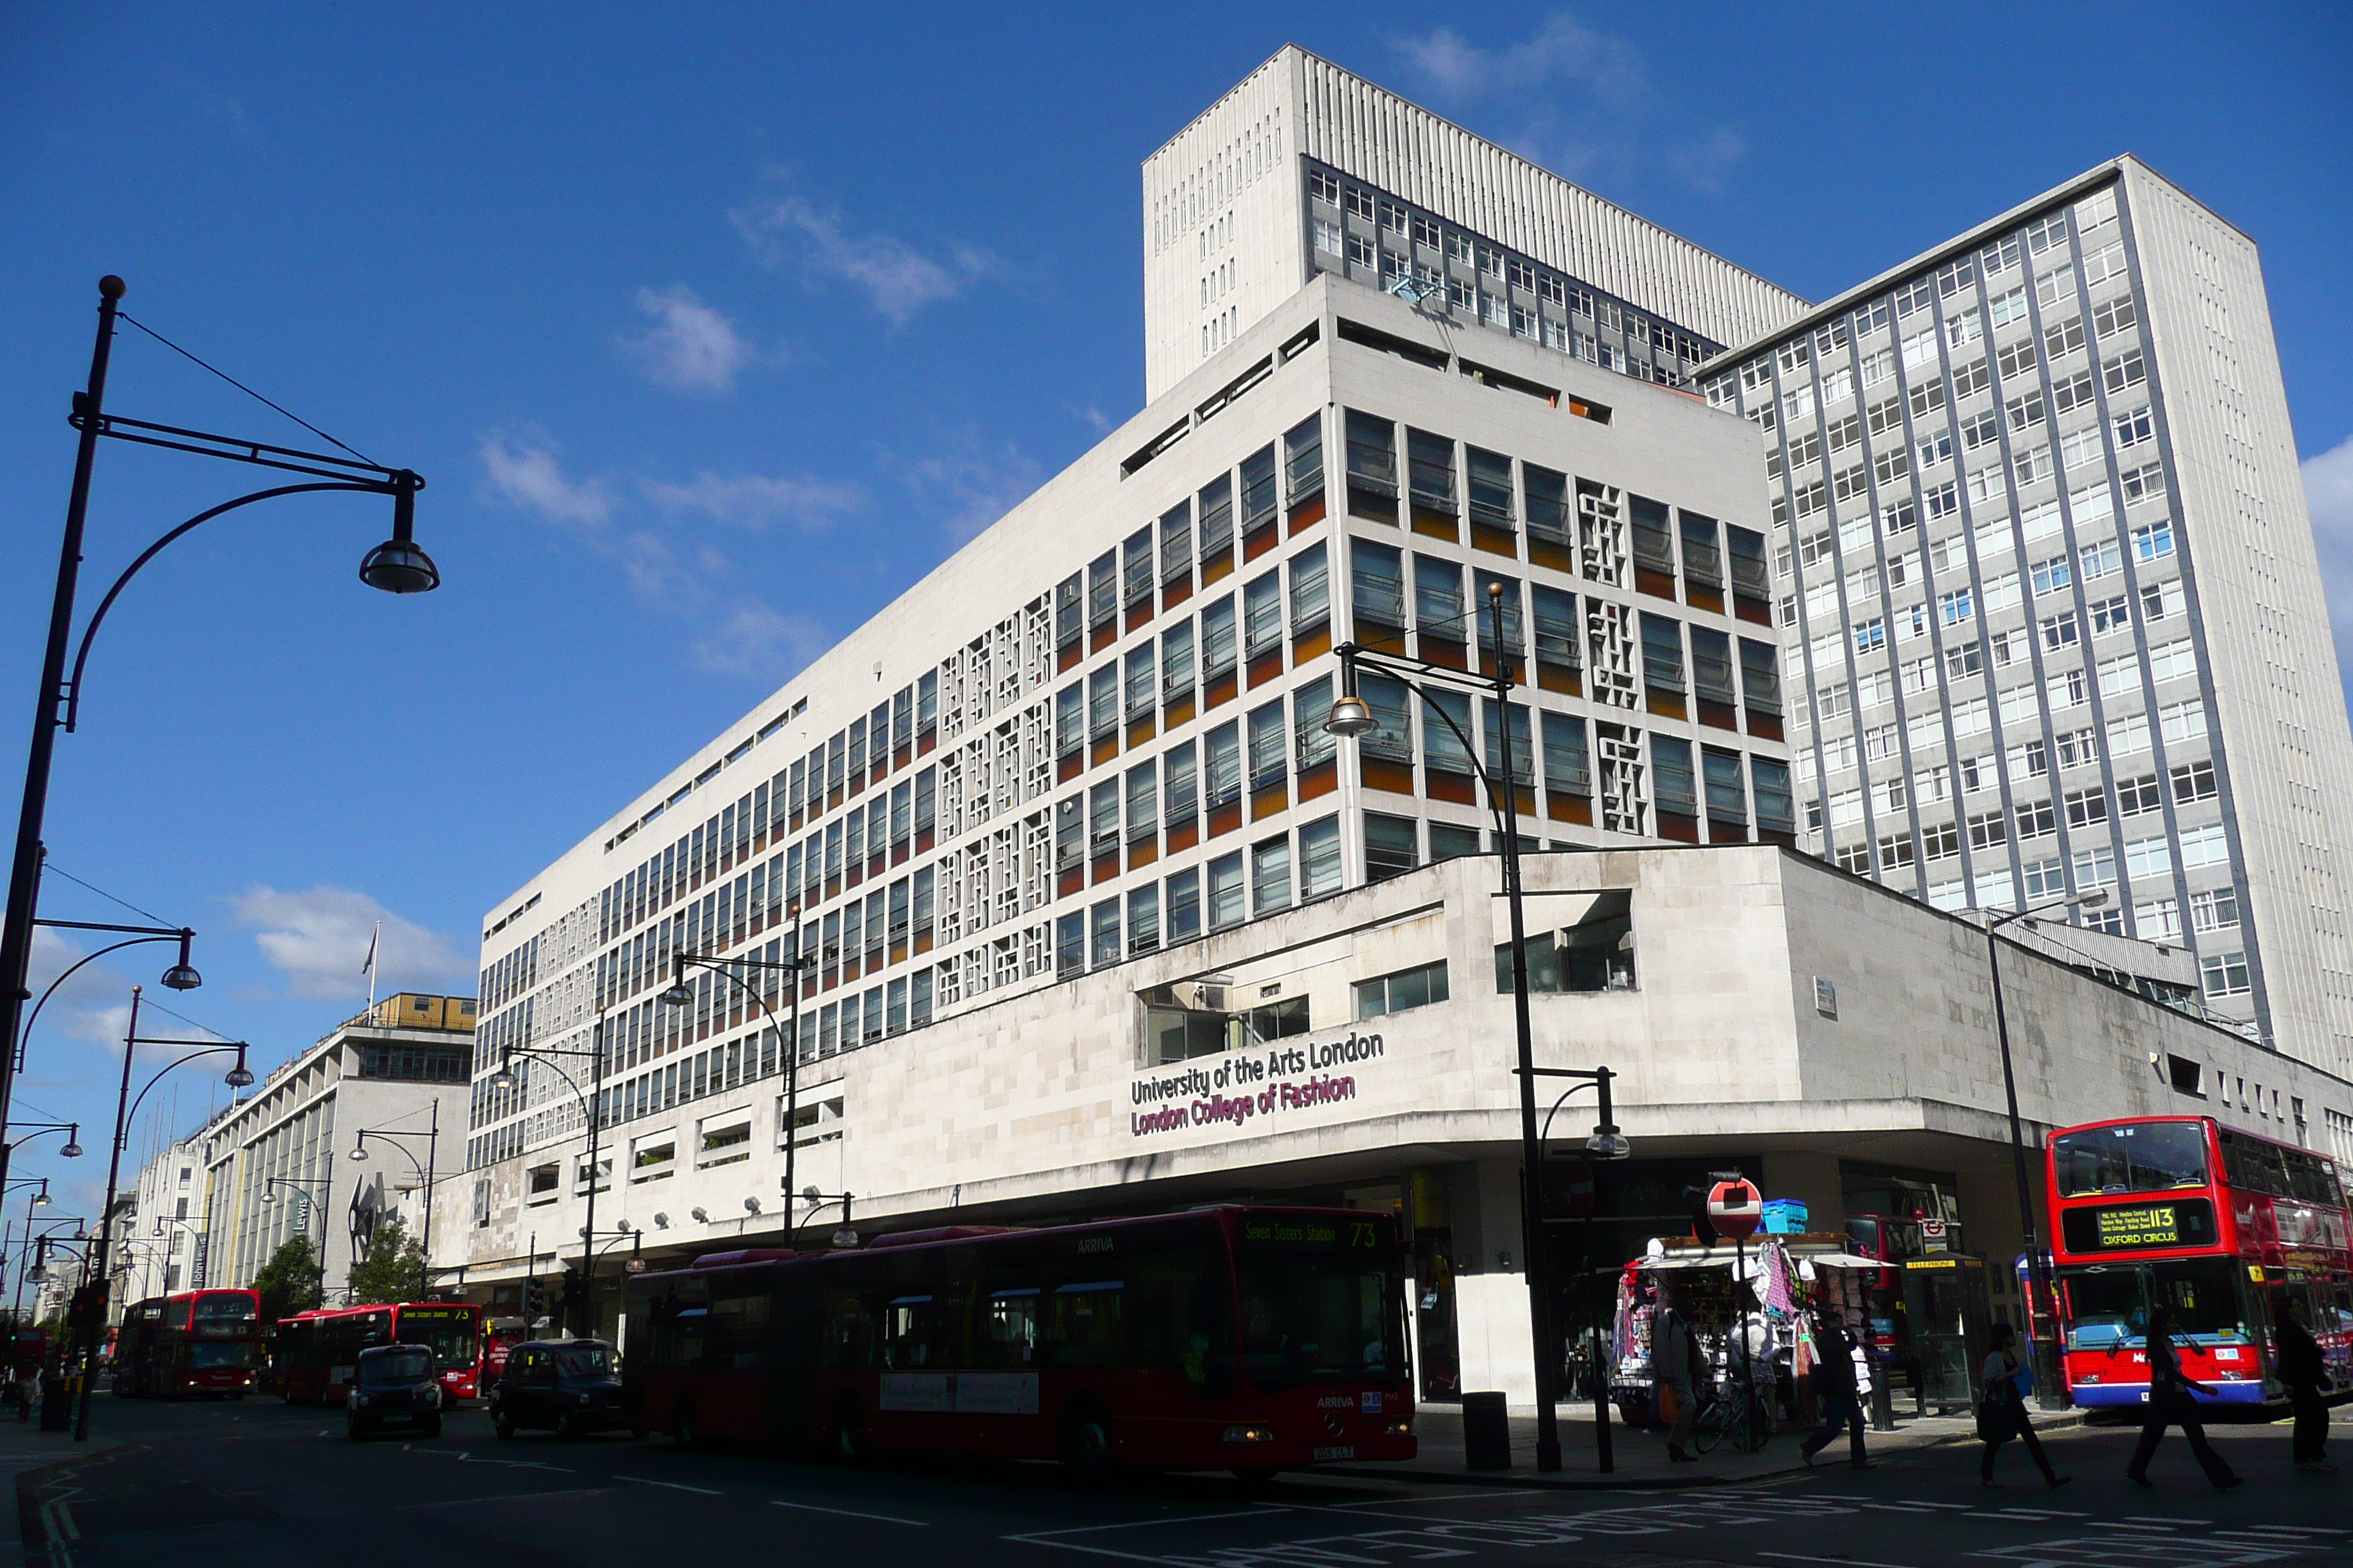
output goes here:
[{"label": "dark shaded asphalt road with white markings across the foreground", "polygon": [[[1572,1462],[1579,1436],[1569,1427]],[[1647,1465],[1626,1434],[1626,1481]],[[2247,1476],[2209,1490],[2169,1439],[2155,1490],[2125,1483],[2132,1429],[2073,1427],[2049,1453],[2075,1486],[2052,1493],[2002,1455],[1981,1490],[1977,1453],[1899,1434],[1875,1469],[1788,1469],[1784,1434],[1697,1490],[1433,1483],[1445,1436],[1414,1474],[1120,1476],[1054,1465],[805,1465],[652,1439],[499,1441],[480,1410],[438,1441],[348,1443],[339,1413],[271,1401],[101,1399],[94,1436],[0,1425],[19,1542],[0,1568],[666,1568],[689,1561],[854,1561],[958,1568],[1118,1559],[1174,1568],[1341,1568],[1447,1559],[1577,1568],[2346,1568],[2353,1472],[2297,1474],[2287,1432],[2219,1427]],[[2337,1425],[2353,1460],[2353,1410]],[[1786,1448],[1774,1455],[1772,1448]],[[1718,1450],[1722,1453],[1722,1450]],[[1711,1455],[1713,1460],[1715,1455]],[[1457,1472],[1459,1474],[1459,1472]]]}]

